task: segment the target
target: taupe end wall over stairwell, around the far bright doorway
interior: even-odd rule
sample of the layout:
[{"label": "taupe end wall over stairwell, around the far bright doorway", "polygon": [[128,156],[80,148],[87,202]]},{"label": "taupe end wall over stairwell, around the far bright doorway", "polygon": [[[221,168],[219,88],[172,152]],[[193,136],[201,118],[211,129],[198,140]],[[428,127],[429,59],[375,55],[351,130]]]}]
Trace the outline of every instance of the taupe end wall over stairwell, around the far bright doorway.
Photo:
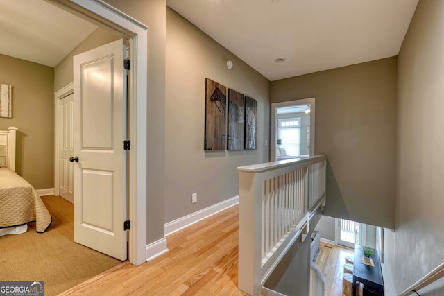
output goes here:
[{"label": "taupe end wall over stairwell, around the far bright doorway", "polygon": [[271,103],[316,98],[327,216],[394,227],[396,70],[393,57],[271,82]]}]

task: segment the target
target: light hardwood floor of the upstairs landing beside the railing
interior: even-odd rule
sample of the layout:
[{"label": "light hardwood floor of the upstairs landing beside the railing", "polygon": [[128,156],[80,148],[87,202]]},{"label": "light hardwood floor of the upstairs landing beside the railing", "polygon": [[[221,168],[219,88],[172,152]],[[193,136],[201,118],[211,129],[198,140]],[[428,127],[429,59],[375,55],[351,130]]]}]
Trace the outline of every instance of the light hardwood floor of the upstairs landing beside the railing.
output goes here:
[{"label": "light hardwood floor of the upstairs landing beside the railing", "polygon": [[238,207],[167,237],[169,252],[128,261],[60,295],[246,295],[237,288]]}]

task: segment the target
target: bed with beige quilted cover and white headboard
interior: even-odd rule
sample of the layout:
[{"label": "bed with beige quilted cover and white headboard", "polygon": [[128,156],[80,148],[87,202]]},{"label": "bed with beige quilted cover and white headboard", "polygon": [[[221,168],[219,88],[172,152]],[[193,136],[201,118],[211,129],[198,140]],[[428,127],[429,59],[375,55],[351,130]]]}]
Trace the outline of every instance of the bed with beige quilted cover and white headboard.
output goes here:
[{"label": "bed with beige quilted cover and white headboard", "polygon": [[17,128],[0,130],[0,236],[26,232],[35,221],[37,232],[45,232],[52,218],[42,199],[26,180],[15,173]]}]

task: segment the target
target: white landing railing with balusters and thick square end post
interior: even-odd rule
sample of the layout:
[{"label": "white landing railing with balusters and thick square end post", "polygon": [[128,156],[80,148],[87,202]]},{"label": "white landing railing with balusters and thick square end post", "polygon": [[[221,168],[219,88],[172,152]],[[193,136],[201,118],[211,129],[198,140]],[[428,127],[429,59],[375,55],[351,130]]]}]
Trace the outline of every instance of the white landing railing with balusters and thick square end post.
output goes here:
[{"label": "white landing railing with balusters and thick square end post", "polygon": [[242,166],[239,171],[239,289],[262,285],[325,202],[325,155]]}]

